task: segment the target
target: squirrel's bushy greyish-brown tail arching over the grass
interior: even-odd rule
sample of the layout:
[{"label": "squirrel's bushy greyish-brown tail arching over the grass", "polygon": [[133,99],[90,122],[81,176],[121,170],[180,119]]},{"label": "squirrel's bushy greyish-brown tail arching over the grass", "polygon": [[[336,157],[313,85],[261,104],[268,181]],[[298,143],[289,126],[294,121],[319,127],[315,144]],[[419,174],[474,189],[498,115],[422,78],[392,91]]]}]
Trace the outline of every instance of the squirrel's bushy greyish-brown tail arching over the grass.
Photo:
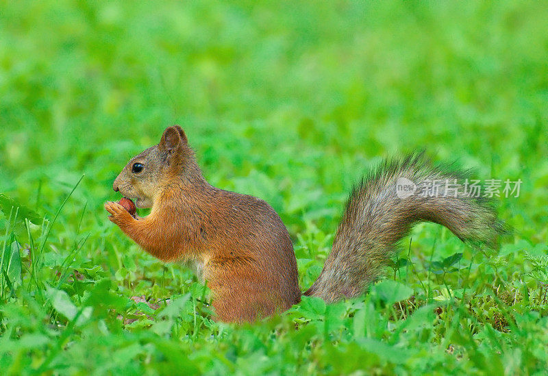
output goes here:
[{"label": "squirrel's bushy greyish-brown tail arching over the grass", "polygon": [[493,247],[506,230],[493,203],[464,184],[466,175],[434,166],[423,153],[383,162],[353,188],[333,249],[305,295],[330,302],[362,294],[399,240],[421,221],[444,225],[464,242]]}]

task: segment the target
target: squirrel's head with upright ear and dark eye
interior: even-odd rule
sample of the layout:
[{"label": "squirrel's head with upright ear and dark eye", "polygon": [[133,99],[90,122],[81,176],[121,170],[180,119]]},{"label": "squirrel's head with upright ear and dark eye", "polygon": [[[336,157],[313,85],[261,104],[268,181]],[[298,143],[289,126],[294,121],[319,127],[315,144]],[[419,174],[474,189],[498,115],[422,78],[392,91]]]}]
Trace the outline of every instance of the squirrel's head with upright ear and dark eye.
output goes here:
[{"label": "squirrel's head with upright ear and dark eye", "polygon": [[173,179],[201,177],[194,152],[179,125],[167,127],[160,143],[132,158],[114,179],[112,188],[134,199],[138,208],[151,208]]}]

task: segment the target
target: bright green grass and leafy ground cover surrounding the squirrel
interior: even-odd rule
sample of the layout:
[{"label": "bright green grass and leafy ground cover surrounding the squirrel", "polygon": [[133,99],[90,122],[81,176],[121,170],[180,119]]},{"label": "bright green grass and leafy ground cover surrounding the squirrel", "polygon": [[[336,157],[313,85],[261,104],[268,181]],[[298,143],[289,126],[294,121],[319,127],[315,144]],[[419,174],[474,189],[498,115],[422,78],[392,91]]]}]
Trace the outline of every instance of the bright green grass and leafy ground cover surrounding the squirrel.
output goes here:
[{"label": "bright green grass and leafy ground cover surrounding the squirrel", "polygon": [[[0,373],[545,372],[546,2],[1,4]],[[521,179],[514,234],[476,250],[419,225],[364,297],[214,323],[102,207],[174,123],[210,183],[282,216],[303,289],[393,153]]]}]

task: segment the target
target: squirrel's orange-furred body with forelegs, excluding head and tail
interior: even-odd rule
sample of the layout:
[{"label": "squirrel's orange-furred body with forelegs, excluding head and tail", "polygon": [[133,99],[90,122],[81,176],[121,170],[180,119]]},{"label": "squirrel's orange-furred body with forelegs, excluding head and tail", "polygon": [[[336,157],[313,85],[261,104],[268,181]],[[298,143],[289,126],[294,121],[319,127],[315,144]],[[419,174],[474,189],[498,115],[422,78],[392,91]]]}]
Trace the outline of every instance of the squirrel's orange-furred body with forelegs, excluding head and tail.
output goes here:
[{"label": "squirrel's orange-furred body with forelegs, excluding head and tail", "polygon": [[158,191],[145,218],[110,201],[105,209],[155,258],[200,264],[221,320],[253,321],[300,301],[292,243],[270,205],[214,188],[201,175],[166,173]]}]

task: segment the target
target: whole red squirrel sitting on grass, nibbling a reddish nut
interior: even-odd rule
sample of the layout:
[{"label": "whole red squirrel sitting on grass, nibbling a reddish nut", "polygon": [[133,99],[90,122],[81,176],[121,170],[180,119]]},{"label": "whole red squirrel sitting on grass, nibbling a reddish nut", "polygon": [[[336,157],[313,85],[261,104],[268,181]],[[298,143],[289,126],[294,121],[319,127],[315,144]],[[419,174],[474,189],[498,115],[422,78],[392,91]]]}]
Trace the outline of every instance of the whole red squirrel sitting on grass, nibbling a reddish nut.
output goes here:
[{"label": "whole red squirrel sitting on grass, nibbling a reddish nut", "polygon": [[[423,152],[382,162],[351,190],[332,251],[303,294],[327,303],[363,294],[399,240],[423,221],[447,227],[464,242],[493,247],[505,225],[490,199],[443,186],[437,195],[424,195],[432,181],[463,188],[465,175],[434,166]],[[399,179],[412,192],[399,195]],[[193,264],[212,292],[215,319],[255,321],[301,301],[297,260],[281,218],[261,199],[208,184],[178,125],[129,160],[112,188],[151,212],[132,216],[108,201],[110,221],[155,258]]]}]

